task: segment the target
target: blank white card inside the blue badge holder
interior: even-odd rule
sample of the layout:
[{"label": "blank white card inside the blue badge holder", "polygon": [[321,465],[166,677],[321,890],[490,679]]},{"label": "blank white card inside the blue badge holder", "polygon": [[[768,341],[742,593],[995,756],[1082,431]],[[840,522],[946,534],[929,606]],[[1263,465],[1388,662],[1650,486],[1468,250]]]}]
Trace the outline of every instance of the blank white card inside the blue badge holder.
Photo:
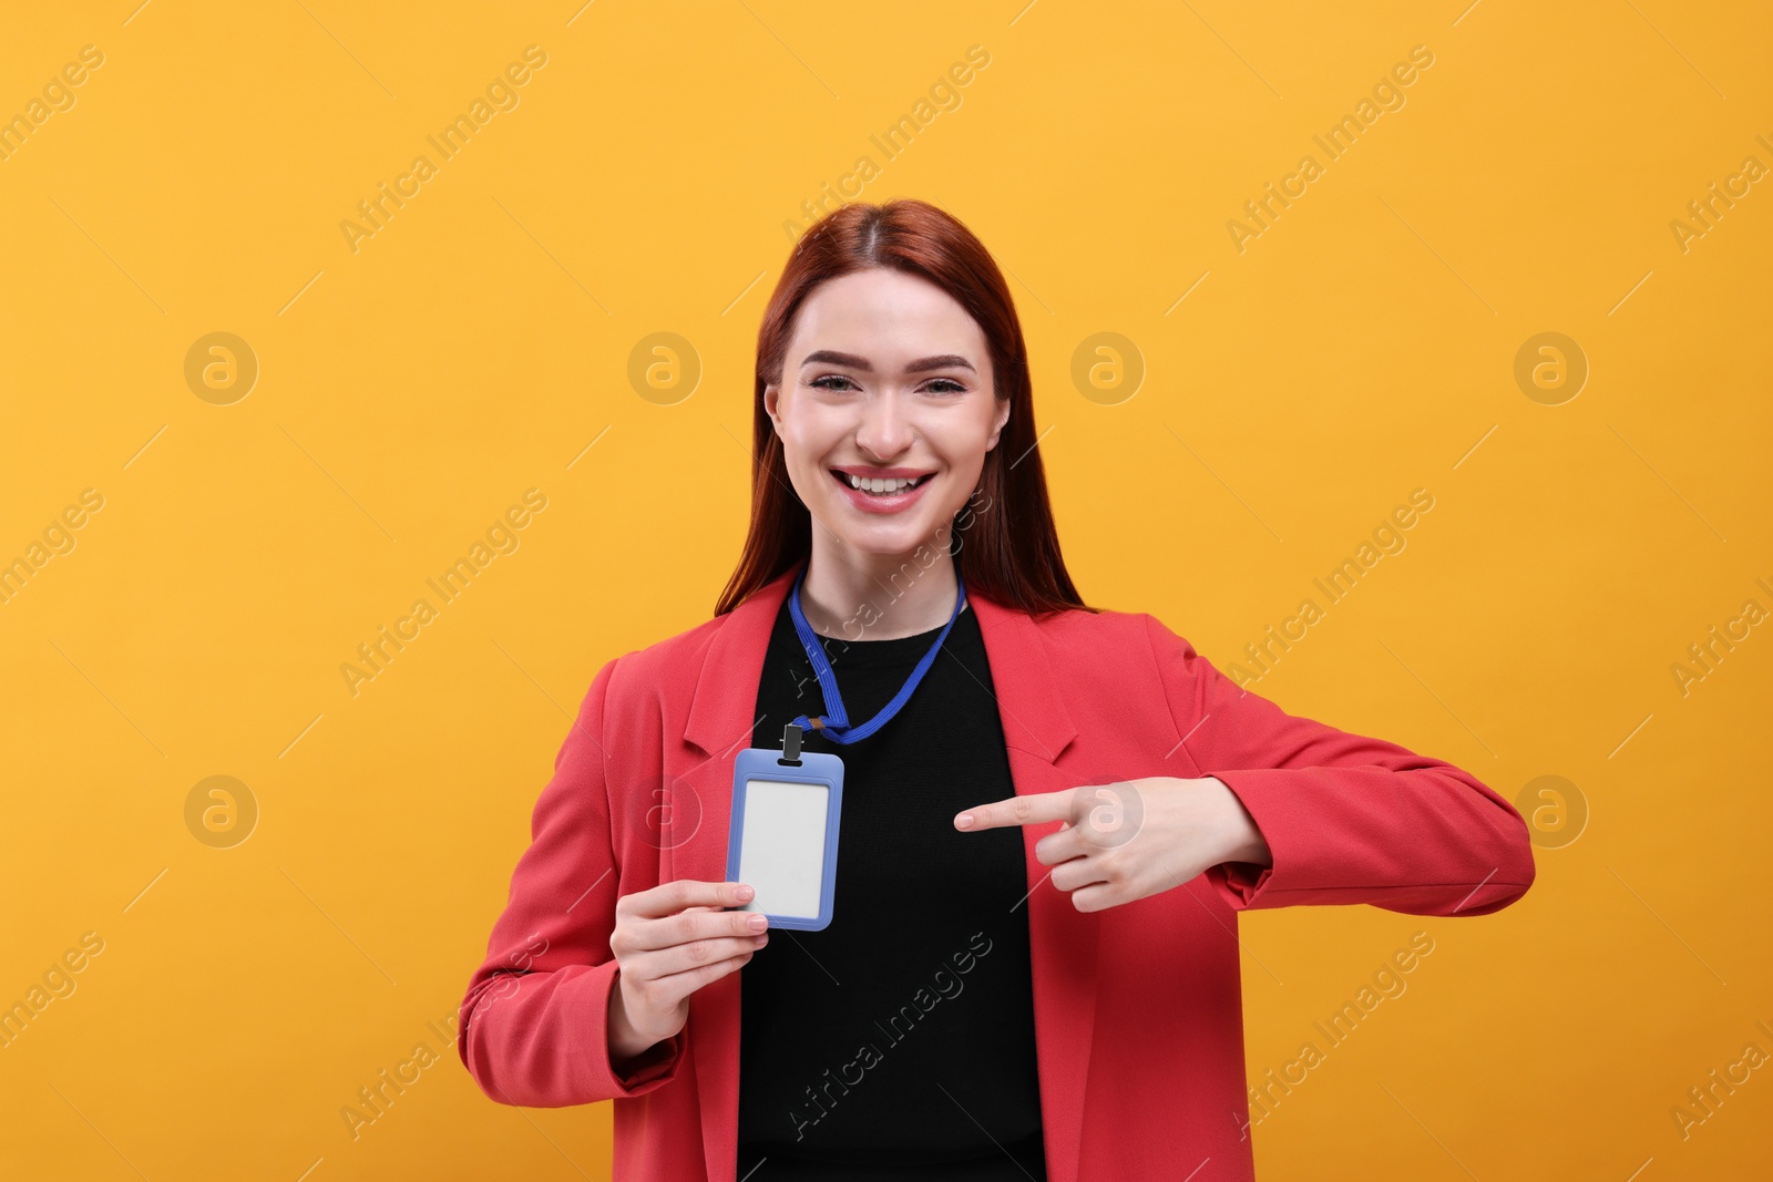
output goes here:
[{"label": "blank white card inside the blue badge holder", "polygon": [[741,911],[817,918],[830,805],[823,783],[746,780],[738,881],[755,888],[757,897]]}]

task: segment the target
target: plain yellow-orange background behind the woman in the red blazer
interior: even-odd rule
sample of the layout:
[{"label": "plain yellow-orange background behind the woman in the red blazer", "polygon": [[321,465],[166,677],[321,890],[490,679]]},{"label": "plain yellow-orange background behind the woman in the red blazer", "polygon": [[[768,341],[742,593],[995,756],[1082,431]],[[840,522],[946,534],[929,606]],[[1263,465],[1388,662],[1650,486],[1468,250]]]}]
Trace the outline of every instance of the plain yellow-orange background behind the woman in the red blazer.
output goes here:
[{"label": "plain yellow-orange background behind the woman in the red blazer", "polygon": [[493,1104],[433,1023],[592,673],[713,610],[757,321],[846,177],[1011,276],[1092,604],[1229,668],[1433,496],[1254,688],[1521,799],[1539,879],[1245,918],[1252,1083],[1433,939],[1261,1177],[1764,1170],[1766,1069],[1672,1115],[1773,1053],[1762,7],[133,2],[0,41],[0,1005],[66,992],[0,1047],[0,1175],[606,1177],[610,1106]]}]

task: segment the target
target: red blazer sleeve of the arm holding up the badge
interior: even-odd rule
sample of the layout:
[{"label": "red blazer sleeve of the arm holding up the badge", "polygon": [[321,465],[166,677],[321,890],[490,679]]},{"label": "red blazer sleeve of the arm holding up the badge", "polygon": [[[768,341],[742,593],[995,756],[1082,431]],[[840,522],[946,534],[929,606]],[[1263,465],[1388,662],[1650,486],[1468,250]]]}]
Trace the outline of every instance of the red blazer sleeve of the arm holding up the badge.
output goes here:
[{"label": "red blazer sleeve of the arm holding up the badge", "polygon": [[686,1049],[686,1031],[677,1031],[626,1076],[610,1065],[617,971],[610,934],[621,870],[610,842],[603,719],[617,661],[592,679],[555,755],[530,817],[530,847],[461,1003],[456,1053],[480,1090],[504,1104],[560,1108],[642,1095],[677,1077]]}]

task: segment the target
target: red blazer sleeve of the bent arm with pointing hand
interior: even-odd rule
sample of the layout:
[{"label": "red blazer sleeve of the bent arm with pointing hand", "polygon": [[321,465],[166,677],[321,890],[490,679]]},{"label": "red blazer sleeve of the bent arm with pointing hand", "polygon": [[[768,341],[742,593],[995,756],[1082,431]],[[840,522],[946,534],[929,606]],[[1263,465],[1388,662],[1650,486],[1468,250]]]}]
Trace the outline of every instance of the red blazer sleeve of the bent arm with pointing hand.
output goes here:
[{"label": "red blazer sleeve of the bent arm with pointing hand", "polygon": [[1477,776],[1287,714],[1145,620],[1184,748],[1243,801],[1275,859],[1206,870],[1232,909],[1372,904],[1472,916],[1532,886],[1527,820]]}]

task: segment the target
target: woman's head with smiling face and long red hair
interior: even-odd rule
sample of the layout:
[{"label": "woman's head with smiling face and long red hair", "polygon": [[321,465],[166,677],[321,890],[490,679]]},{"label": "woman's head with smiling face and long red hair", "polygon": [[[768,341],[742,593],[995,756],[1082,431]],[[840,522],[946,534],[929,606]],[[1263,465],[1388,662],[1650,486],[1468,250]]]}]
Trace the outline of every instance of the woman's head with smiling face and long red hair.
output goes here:
[{"label": "woman's head with smiling face and long red hair", "polygon": [[[949,548],[975,489],[998,512],[956,548],[966,587],[1023,611],[1083,606],[1034,447],[1028,351],[1009,285],[947,213],[918,200],[856,204],[807,230],[757,333],[755,397],[752,525],[716,615],[808,556],[814,629],[821,604],[832,604],[826,624],[847,618],[840,604],[878,599],[918,544]],[[872,484],[888,478],[920,484]],[[922,583],[878,622],[876,640],[947,618],[954,583]]]}]

